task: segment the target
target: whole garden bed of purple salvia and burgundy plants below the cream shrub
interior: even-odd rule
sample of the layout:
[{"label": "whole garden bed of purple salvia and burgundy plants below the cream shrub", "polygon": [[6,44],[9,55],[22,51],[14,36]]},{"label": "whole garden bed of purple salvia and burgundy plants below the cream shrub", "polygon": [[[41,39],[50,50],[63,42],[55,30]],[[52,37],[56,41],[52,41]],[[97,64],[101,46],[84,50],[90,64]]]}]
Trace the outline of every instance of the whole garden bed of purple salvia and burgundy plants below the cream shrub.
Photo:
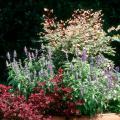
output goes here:
[{"label": "whole garden bed of purple salvia and burgundy plants below the cream shrub", "polygon": [[120,73],[113,63],[102,54],[88,56],[84,48],[55,69],[52,52],[46,49],[39,57],[37,50],[34,55],[25,48],[23,63],[16,52],[12,61],[7,54],[11,86],[0,84],[0,119],[120,120],[115,114],[98,114],[120,113]]}]

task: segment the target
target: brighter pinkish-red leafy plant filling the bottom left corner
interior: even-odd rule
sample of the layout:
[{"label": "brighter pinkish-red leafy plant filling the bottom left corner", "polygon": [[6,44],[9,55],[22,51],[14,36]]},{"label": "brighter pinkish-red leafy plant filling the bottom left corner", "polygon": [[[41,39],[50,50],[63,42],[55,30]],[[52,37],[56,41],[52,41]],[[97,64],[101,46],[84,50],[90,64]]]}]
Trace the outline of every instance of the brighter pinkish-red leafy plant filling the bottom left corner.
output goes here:
[{"label": "brighter pinkish-red leafy plant filling the bottom left corner", "polygon": [[51,120],[43,111],[34,109],[24,96],[10,93],[11,87],[0,84],[0,119],[2,120]]}]

